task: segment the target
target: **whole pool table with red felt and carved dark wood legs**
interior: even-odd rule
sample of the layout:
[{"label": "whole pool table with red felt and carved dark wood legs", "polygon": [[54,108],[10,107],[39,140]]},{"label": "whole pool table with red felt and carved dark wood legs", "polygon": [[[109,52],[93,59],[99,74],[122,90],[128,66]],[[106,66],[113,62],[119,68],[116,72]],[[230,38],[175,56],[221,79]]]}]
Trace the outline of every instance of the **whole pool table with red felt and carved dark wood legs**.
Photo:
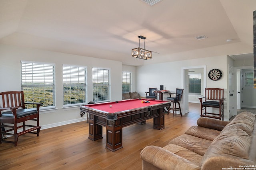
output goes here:
[{"label": "whole pool table with red felt and carved dark wood legs", "polygon": [[[154,119],[154,129],[164,129],[164,107],[170,102],[161,100],[132,99],[80,106],[80,111],[89,113],[89,139],[102,139],[102,127],[106,127],[106,148],[113,152],[121,149],[122,128],[134,123],[144,124]],[[110,107],[112,105],[112,107]]]}]

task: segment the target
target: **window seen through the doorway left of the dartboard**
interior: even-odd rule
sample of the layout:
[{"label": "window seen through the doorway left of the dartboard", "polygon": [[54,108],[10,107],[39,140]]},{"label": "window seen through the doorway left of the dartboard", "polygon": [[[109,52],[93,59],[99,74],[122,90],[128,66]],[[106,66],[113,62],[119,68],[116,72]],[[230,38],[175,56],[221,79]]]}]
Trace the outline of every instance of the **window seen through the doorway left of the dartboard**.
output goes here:
[{"label": "window seen through the doorway left of the dartboard", "polygon": [[189,94],[201,94],[201,74],[190,74],[189,78]]}]

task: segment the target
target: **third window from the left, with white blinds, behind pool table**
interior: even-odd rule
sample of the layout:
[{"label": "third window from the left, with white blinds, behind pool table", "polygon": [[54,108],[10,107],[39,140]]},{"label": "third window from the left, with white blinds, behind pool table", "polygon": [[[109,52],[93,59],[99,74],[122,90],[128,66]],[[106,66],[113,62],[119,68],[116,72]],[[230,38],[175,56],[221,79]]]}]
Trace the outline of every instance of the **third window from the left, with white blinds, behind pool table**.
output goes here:
[{"label": "third window from the left, with white blinds, behind pool table", "polygon": [[92,89],[94,102],[110,100],[110,70],[92,68]]}]

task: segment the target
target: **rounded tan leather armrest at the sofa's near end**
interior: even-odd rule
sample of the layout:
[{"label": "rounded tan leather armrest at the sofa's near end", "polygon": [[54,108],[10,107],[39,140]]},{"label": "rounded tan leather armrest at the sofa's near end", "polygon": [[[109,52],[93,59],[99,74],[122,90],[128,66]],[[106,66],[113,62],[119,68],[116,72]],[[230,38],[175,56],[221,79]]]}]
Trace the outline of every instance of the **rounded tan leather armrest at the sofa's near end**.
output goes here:
[{"label": "rounded tan leather armrest at the sofa's near end", "polygon": [[145,147],[140,152],[140,158],[142,159],[142,168],[143,162],[146,161],[149,164],[152,164],[152,169],[153,167],[157,167],[162,170],[200,170],[199,166],[196,166],[189,160],[157,146]]}]

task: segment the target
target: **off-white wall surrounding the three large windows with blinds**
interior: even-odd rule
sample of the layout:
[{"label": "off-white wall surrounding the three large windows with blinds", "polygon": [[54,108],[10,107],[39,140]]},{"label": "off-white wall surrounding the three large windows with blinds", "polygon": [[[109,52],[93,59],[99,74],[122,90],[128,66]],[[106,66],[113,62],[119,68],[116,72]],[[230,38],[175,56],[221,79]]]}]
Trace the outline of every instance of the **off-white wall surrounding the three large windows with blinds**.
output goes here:
[{"label": "off-white wall surrounding the three large windows with blinds", "polygon": [[62,65],[87,66],[88,102],[92,101],[92,67],[110,68],[111,101],[122,100],[122,63],[79,55],[0,45],[0,92],[21,90],[20,61],[55,63],[56,109],[40,111],[42,129],[82,121],[78,107],[63,108]]}]

